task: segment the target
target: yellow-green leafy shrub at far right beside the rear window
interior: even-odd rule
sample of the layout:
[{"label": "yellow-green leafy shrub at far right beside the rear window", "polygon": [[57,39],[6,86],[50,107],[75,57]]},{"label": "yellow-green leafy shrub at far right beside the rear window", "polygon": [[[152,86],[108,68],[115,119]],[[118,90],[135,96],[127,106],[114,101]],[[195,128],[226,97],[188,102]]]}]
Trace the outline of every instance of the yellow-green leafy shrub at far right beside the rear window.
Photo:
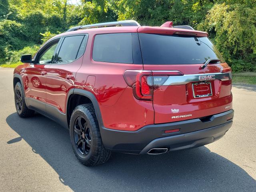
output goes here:
[{"label": "yellow-green leafy shrub at far right beside the rear window", "polygon": [[232,70],[256,70],[256,6],[216,4],[198,30],[206,30]]}]

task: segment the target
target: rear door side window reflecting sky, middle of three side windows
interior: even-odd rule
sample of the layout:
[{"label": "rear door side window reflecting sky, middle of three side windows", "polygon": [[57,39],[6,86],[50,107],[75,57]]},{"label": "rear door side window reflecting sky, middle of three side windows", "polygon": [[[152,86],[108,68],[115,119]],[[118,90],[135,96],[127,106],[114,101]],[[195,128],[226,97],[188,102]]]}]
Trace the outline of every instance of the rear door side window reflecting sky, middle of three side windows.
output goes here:
[{"label": "rear door side window reflecting sky, middle of three side windows", "polygon": [[82,46],[85,46],[85,41],[84,35],[65,37],[58,53],[57,63],[67,64],[82,56],[84,53]]}]

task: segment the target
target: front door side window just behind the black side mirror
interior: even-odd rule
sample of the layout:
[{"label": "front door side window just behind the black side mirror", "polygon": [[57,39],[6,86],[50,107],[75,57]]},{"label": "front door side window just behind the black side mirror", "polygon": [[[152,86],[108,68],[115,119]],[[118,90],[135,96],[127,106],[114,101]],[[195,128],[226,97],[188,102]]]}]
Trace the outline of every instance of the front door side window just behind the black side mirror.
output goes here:
[{"label": "front door side window just behind the black side mirror", "polygon": [[59,40],[54,41],[48,48],[46,48],[46,50],[42,52],[42,54],[40,54],[38,58],[39,64],[48,64],[52,62],[58,42]]}]

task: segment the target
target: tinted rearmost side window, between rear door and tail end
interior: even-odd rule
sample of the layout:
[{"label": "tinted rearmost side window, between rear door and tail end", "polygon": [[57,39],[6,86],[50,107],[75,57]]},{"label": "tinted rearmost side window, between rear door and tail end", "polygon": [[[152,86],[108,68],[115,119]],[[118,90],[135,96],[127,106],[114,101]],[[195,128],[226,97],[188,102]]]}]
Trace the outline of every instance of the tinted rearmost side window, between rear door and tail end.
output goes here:
[{"label": "tinted rearmost side window, between rear door and tail end", "polygon": [[94,61],[132,64],[132,34],[96,35],[92,58]]}]

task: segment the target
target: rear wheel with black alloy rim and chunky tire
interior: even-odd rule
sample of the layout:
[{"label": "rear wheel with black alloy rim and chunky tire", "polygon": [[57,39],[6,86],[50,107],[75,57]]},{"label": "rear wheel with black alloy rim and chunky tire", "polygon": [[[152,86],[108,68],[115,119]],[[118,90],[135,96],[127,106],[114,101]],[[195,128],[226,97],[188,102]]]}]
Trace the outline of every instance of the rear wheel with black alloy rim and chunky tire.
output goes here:
[{"label": "rear wheel with black alloy rim and chunky tire", "polygon": [[77,106],[70,118],[70,140],[77,159],[85,166],[106,162],[111,152],[104,148],[92,104]]}]

